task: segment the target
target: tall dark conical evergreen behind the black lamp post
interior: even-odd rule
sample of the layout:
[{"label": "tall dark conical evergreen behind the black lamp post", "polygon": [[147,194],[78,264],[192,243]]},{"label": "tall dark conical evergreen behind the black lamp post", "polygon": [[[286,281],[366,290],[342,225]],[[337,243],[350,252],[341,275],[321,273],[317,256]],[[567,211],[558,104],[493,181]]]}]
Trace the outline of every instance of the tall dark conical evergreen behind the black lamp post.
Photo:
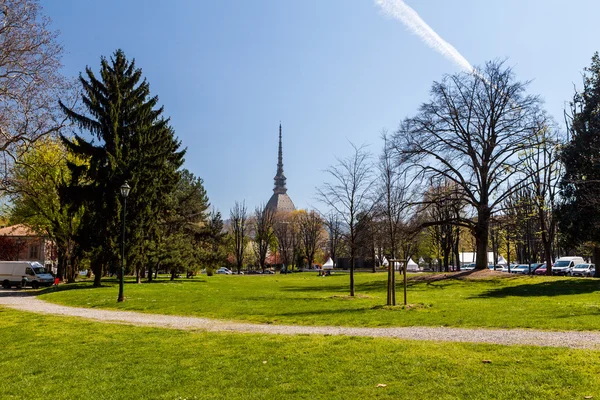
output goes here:
[{"label": "tall dark conical evergreen behind the black lamp post", "polygon": [[[65,191],[72,203],[84,203],[86,213],[80,225],[80,241],[94,255],[95,285],[106,267],[117,265],[121,245],[122,202],[119,188],[131,186],[126,230],[128,267],[141,270],[147,243],[156,236],[158,216],[166,207],[165,198],[179,181],[179,167],[185,150],[175,138],[169,120],[157,108],[158,97],[142,79],[135,61],[122,50],[110,60],[101,58],[100,76],[87,67],[80,74],[85,113],[61,102],[66,116],[93,140],[76,135],[63,137],[70,151],[89,160],[89,165],[70,165],[73,183]],[[129,269],[131,270],[131,268]]]}]

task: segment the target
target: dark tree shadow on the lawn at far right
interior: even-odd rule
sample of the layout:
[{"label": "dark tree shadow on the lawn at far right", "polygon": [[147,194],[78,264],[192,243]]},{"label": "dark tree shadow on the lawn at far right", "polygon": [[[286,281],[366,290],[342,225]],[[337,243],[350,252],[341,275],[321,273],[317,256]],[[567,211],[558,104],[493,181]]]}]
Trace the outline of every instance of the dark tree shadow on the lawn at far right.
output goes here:
[{"label": "dark tree shadow on the lawn at far right", "polygon": [[564,296],[597,291],[600,291],[600,280],[572,278],[491,289],[471,298]]}]

